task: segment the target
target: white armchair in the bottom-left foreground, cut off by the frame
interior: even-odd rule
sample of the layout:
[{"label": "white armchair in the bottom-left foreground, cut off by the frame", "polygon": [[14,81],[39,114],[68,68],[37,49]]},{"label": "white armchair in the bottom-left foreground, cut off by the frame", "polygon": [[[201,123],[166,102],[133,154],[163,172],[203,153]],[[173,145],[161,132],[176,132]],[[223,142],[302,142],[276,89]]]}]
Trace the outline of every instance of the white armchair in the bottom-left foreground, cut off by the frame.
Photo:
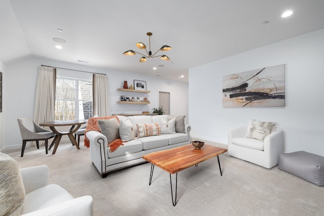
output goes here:
[{"label": "white armchair in the bottom-left foreground, cut off by the frame", "polygon": [[23,215],[93,215],[91,196],[73,198],[65,189],[49,184],[47,165],[21,168],[25,188]]}]

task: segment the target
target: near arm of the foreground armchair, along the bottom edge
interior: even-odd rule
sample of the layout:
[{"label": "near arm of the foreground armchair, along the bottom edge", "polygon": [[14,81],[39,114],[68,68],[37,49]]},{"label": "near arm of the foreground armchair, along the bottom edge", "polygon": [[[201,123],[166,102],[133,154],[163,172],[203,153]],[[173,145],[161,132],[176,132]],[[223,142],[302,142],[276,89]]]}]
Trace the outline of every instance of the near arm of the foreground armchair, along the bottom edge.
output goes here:
[{"label": "near arm of the foreground armchair, along the bottom edge", "polygon": [[93,215],[93,199],[91,196],[82,196],[75,199],[62,202],[47,208],[39,209],[24,216],[63,216],[63,215],[78,215],[78,216],[88,216]]}]

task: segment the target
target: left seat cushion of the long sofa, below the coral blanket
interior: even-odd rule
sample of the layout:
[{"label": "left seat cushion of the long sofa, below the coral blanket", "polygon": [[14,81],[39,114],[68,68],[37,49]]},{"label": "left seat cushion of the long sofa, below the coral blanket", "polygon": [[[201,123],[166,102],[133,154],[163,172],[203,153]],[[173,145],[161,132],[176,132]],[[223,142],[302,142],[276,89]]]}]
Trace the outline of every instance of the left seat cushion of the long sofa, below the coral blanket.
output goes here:
[{"label": "left seat cushion of the long sofa, below the coral blanket", "polygon": [[138,141],[137,139],[131,140],[128,142],[123,142],[123,146],[119,146],[114,152],[108,152],[108,157],[118,157],[121,155],[131,154],[135,152],[140,152],[143,150],[143,144],[142,142]]}]

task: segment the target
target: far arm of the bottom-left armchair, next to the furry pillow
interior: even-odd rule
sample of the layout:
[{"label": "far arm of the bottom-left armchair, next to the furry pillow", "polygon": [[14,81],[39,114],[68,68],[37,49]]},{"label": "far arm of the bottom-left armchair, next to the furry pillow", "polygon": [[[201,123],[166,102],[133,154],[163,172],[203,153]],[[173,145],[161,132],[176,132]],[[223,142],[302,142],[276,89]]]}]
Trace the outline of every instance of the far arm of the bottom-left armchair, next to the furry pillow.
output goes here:
[{"label": "far arm of the bottom-left armchair, next to the furry pillow", "polygon": [[47,165],[21,168],[20,173],[26,194],[48,185],[50,181],[49,167]]}]

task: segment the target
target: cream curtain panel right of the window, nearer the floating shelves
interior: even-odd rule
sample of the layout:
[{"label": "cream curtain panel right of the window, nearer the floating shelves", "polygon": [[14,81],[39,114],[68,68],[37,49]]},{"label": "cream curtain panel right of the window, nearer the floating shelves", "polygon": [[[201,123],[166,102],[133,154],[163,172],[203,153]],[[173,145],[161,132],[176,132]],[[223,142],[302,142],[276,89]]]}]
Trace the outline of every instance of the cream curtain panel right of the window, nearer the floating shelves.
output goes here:
[{"label": "cream curtain panel right of the window, nearer the floating shelves", "polygon": [[105,74],[93,74],[93,115],[109,115],[108,80]]}]

